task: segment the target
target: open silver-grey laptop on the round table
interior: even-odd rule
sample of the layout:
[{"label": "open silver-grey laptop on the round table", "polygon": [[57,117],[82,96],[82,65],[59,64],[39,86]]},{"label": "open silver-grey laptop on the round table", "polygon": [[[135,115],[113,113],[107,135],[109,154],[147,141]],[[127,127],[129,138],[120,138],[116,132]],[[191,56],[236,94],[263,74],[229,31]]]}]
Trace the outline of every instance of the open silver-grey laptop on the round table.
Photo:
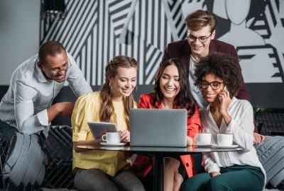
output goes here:
[{"label": "open silver-grey laptop on the round table", "polygon": [[187,110],[131,109],[131,146],[187,146]]}]

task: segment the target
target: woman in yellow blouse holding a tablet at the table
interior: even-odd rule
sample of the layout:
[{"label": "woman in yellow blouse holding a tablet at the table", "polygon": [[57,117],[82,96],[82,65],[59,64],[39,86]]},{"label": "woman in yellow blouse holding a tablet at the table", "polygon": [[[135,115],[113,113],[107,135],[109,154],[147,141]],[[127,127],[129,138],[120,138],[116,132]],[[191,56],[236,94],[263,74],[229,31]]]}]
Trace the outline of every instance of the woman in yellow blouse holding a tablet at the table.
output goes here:
[{"label": "woman in yellow blouse holding a tablet at the table", "polygon": [[87,122],[114,122],[121,141],[130,141],[129,111],[137,108],[132,91],[136,87],[138,63],[126,56],[111,59],[105,69],[101,91],[78,98],[72,113],[73,173],[78,190],[144,190],[131,171],[131,158],[120,151],[89,151],[77,146],[97,145]]}]

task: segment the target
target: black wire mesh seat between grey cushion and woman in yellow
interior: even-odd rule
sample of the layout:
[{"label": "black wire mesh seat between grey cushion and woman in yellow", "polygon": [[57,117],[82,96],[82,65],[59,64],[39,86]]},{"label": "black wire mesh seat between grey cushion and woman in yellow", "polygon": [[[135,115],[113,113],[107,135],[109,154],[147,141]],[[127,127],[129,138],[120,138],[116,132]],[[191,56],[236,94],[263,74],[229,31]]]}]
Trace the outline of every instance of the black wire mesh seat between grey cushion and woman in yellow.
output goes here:
[{"label": "black wire mesh seat between grey cushion and woman in yellow", "polygon": [[43,147],[48,156],[48,166],[42,187],[73,189],[72,127],[51,126]]}]

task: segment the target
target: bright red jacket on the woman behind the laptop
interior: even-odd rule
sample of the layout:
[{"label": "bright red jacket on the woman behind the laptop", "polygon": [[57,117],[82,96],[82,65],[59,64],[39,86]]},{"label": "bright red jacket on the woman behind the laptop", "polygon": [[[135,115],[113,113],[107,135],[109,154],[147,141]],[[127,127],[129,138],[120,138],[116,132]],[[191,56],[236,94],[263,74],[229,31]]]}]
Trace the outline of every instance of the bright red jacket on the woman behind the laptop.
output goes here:
[{"label": "bright red jacket on the woman behind the laptop", "polygon": [[[153,93],[142,94],[140,96],[138,102],[138,108],[154,108],[153,102]],[[162,103],[157,102],[158,108],[162,108]],[[178,109],[178,108],[177,108]],[[190,110],[188,111],[190,112]],[[198,109],[198,105],[195,103],[195,113],[192,117],[187,119],[187,136],[191,137],[192,139],[195,137],[195,134],[199,132],[201,129],[200,123],[200,112]],[[180,156],[183,165],[187,171],[188,177],[192,177],[193,175],[193,159],[190,155]],[[132,165],[133,171],[136,175],[145,177],[151,170],[153,166],[153,158],[149,156],[136,156],[136,159]]]}]

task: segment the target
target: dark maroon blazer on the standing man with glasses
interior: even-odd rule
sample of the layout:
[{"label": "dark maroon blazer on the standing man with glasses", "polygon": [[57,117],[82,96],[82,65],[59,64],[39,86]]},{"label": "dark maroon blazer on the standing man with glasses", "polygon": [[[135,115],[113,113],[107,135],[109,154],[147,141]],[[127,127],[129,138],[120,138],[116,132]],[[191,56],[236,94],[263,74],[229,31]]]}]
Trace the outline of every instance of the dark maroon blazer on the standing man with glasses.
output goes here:
[{"label": "dark maroon blazer on the standing man with glasses", "polygon": [[[236,53],[236,49],[233,45],[230,45],[226,42],[222,42],[219,40],[211,40],[209,45],[209,53],[210,52],[220,52],[222,54],[229,54],[233,57],[239,59],[238,54]],[[187,40],[180,40],[177,42],[172,42],[165,47],[165,52],[163,54],[162,62],[167,59],[171,58],[178,58],[182,60],[182,63],[185,64],[187,68],[187,74],[189,74],[190,69],[190,55],[191,49],[190,45],[188,44]],[[239,66],[241,69],[241,66]],[[241,88],[239,90],[238,95],[236,98],[240,100],[249,100],[249,92],[244,84],[244,78],[241,76]],[[254,124],[254,132],[258,132],[256,123]]]}]

